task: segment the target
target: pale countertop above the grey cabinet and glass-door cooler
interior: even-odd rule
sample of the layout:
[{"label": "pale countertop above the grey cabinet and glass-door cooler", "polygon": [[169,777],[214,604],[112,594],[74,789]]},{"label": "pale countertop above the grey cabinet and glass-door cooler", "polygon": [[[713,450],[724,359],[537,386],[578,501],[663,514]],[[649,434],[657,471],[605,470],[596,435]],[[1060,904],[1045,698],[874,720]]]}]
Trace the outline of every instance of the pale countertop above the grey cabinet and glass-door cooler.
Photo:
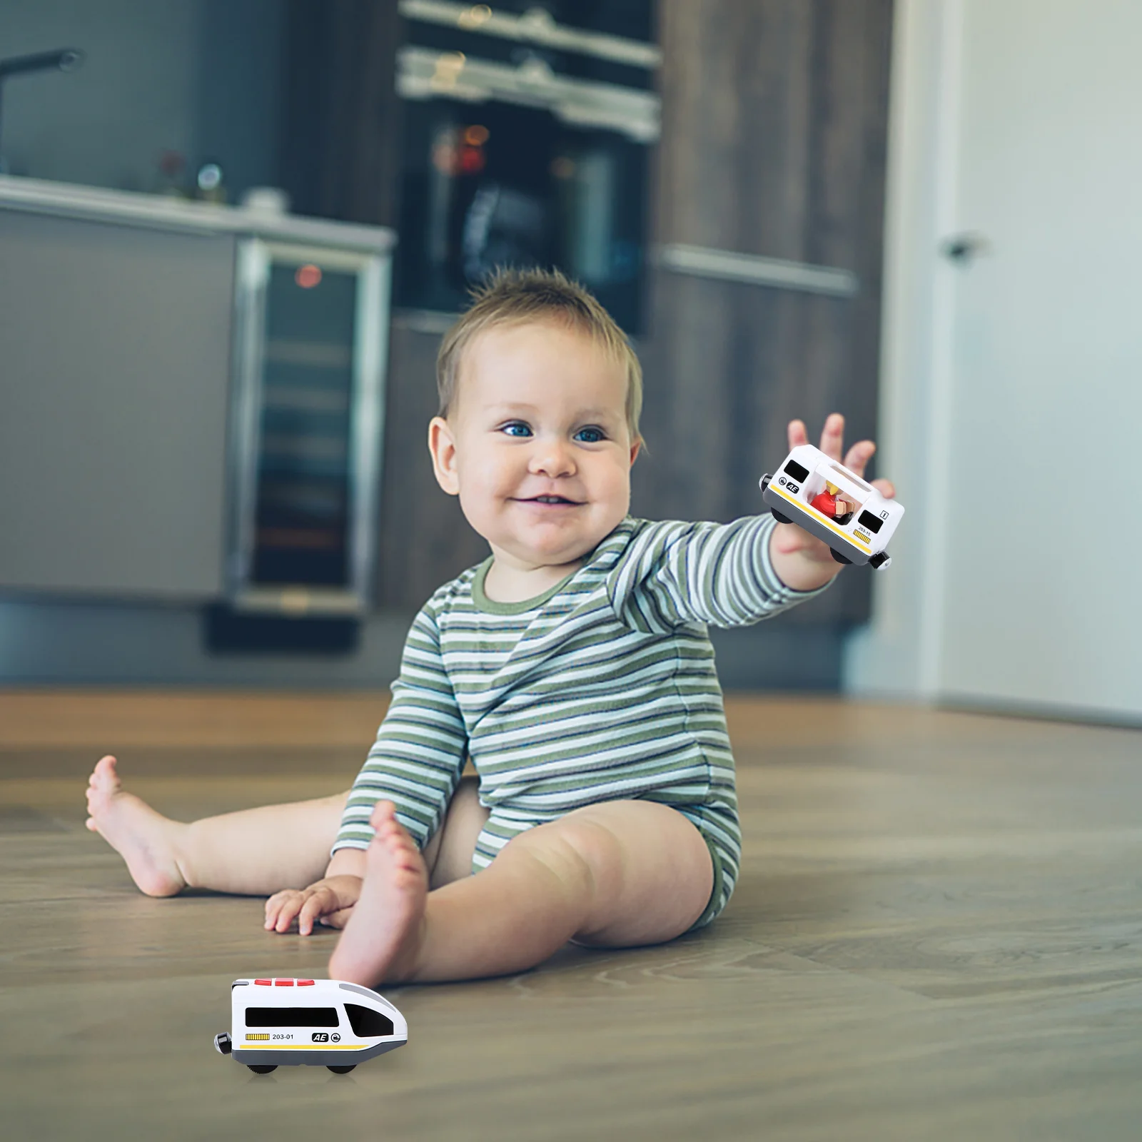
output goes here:
[{"label": "pale countertop above the grey cabinet and glass-door cooler", "polygon": [[396,234],[385,226],[306,218],[248,207],[187,202],[95,186],[0,175],[0,209],[65,218],[89,218],[123,226],[200,234],[251,234],[271,241],[313,242],[387,254]]}]

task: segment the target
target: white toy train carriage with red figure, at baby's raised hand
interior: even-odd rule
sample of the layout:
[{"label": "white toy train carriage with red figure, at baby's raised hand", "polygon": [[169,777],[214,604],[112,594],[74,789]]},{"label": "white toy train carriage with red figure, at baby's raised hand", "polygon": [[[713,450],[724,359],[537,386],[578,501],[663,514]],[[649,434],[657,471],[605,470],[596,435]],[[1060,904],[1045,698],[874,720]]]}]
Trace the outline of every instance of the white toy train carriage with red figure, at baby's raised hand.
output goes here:
[{"label": "white toy train carriage with red figure, at baby's raised hand", "polygon": [[819,448],[798,444],[775,476],[762,476],[761,488],[775,520],[825,540],[838,563],[879,571],[892,562],[885,547],[903,507]]}]

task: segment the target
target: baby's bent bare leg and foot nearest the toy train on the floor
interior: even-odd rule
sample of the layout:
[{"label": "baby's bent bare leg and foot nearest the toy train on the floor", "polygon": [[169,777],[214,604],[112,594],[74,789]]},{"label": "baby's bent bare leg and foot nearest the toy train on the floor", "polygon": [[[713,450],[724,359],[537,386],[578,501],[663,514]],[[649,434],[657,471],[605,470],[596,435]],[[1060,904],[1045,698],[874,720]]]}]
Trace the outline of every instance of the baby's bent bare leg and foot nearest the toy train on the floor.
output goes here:
[{"label": "baby's bent bare leg and foot nearest the toy train on the floor", "polygon": [[709,850],[681,813],[643,801],[577,810],[515,837],[476,876],[428,892],[391,803],[373,813],[361,899],[329,972],[365,984],[525,971],[574,938],[661,943],[701,916]]}]

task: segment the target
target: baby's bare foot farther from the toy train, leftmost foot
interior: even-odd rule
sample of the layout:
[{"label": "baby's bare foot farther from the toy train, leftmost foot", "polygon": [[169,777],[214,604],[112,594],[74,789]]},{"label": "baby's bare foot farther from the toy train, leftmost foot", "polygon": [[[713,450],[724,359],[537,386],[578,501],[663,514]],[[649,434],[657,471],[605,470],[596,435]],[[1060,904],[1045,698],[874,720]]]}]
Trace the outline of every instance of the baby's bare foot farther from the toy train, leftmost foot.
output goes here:
[{"label": "baby's bare foot farther from the toy train, leftmost foot", "polygon": [[127,861],[127,871],[148,896],[172,896],[186,887],[175,859],[174,833],[185,828],[123,793],[115,759],[104,757],[87,786],[87,827]]}]

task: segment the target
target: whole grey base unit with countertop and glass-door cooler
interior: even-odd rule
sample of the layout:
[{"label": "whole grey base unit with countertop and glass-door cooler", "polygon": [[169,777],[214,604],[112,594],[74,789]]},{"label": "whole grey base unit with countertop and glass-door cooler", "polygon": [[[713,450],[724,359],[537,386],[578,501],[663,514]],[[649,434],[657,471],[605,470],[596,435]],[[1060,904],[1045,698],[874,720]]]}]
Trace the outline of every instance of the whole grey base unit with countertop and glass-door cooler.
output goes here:
[{"label": "whole grey base unit with countertop and glass-door cooler", "polygon": [[363,613],[392,246],[0,178],[0,589]]}]

